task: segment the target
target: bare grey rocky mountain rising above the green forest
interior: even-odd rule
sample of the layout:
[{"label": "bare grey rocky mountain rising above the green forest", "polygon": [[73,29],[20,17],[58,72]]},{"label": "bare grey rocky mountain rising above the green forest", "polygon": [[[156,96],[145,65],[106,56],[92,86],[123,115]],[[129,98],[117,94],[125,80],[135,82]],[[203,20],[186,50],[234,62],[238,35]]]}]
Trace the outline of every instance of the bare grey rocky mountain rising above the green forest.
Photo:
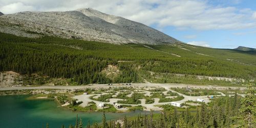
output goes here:
[{"label": "bare grey rocky mountain rising above the green forest", "polygon": [[66,12],[19,12],[0,17],[0,32],[25,37],[42,35],[114,44],[180,42],[158,30],[120,16],[87,8]]}]

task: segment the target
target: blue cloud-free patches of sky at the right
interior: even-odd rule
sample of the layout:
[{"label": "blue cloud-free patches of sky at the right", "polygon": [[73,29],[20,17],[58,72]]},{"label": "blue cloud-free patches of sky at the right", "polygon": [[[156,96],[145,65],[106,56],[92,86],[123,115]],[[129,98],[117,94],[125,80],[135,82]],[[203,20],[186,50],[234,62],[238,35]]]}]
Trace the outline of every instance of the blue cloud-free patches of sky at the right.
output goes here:
[{"label": "blue cloud-free patches of sky at the right", "polygon": [[[255,1],[215,1],[210,3],[214,6],[236,7],[238,9],[249,8],[256,10]],[[157,28],[156,26],[152,26]],[[256,26],[255,26],[256,27]],[[184,42],[195,42],[195,44],[212,48],[237,48],[238,46],[256,48],[256,28],[244,29],[217,29],[217,30],[180,30],[176,27],[165,27],[162,32],[173,36]],[[198,42],[198,43],[197,43]],[[201,42],[201,43],[200,43]]]}]

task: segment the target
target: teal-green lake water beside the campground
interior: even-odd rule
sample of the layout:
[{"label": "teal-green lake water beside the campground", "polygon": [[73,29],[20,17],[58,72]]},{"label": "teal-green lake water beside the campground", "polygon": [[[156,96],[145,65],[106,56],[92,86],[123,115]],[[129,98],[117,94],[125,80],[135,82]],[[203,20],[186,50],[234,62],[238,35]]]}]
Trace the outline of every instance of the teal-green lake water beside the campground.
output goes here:
[{"label": "teal-green lake water beside the campground", "polygon": [[[74,112],[58,106],[54,100],[27,100],[28,96],[0,96],[0,127],[68,127],[75,123],[76,114],[83,120],[84,126],[88,120],[91,123],[101,122],[102,113]],[[118,119],[126,116],[136,116],[141,111],[129,113],[106,113],[106,119]],[[144,114],[144,112],[142,112]]]}]

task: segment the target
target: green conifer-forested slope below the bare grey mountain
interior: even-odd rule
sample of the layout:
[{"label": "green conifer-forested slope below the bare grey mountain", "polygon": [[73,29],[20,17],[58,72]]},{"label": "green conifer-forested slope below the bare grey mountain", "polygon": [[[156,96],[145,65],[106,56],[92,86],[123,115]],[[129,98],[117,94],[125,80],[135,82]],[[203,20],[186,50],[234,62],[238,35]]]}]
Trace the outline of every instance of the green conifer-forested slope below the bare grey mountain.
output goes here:
[{"label": "green conifer-forested slope below the bare grey mountain", "polygon": [[[77,84],[141,82],[142,72],[256,78],[256,52],[186,44],[113,45],[57,37],[27,38],[0,33],[0,71],[69,78]],[[120,74],[102,73],[116,65]],[[147,79],[147,77],[144,77]]]}]

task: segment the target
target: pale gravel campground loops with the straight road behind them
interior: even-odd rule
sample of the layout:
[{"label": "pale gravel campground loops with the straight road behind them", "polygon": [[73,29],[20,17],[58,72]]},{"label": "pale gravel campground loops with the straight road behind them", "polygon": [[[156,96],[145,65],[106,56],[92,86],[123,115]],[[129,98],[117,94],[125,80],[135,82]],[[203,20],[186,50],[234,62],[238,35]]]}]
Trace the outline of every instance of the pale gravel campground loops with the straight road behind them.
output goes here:
[{"label": "pale gravel campground loops with the straight road behind them", "polygon": [[[175,93],[178,93],[180,96],[183,96],[184,99],[175,101],[178,103],[184,103],[185,101],[192,100],[196,101],[199,99],[204,99],[205,102],[209,102],[210,100],[207,98],[207,96],[187,96],[184,94],[181,94],[179,92],[176,92],[174,90],[170,90],[170,88],[193,88],[193,89],[246,89],[246,88],[239,88],[239,87],[220,87],[220,86],[198,86],[193,84],[160,84],[160,83],[132,83],[132,85],[126,85],[126,84],[113,84],[109,86],[108,84],[89,84],[87,86],[39,86],[39,87],[3,87],[0,88],[0,91],[6,91],[6,90],[44,90],[44,89],[57,89],[57,90],[76,90],[76,89],[87,89],[87,88],[93,88],[93,89],[101,89],[101,88],[115,88],[115,87],[133,87],[133,88],[142,88],[142,87],[156,87],[156,88],[164,88],[166,91],[162,92],[164,95],[167,94],[168,91],[172,91]],[[139,90],[139,89],[138,89]],[[145,93],[145,96],[150,96],[150,91],[145,90],[139,90],[141,93]],[[117,94],[113,95],[114,97],[117,96],[120,92],[118,91]],[[127,95],[127,97],[131,97],[134,92],[131,92],[131,94]],[[78,95],[74,96],[73,98],[78,99],[79,101],[83,101],[80,105],[81,106],[87,106],[89,102],[93,101],[96,104],[100,103],[100,101],[92,100],[90,99],[91,96],[94,96],[94,98],[99,97],[100,95],[108,94],[108,93],[102,93],[102,94],[89,94],[89,95]],[[218,96],[225,96],[225,94],[220,93]],[[114,102],[117,102],[118,100],[125,100],[125,99],[118,99],[118,97],[111,98],[109,102],[102,102],[102,103],[108,103],[113,104]],[[163,104],[170,104],[170,102],[159,102],[159,98],[154,98],[154,103],[146,104],[145,99],[139,99],[141,100],[140,104],[122,104],[121,105],[142,105],[144,106],[144,110],[150,111],[150,110],[162,110],[162,108],[157,107],[156,105],[163,105]],[[127,109],[122,108],[118,109],[120,111],[126,111]]]}]

